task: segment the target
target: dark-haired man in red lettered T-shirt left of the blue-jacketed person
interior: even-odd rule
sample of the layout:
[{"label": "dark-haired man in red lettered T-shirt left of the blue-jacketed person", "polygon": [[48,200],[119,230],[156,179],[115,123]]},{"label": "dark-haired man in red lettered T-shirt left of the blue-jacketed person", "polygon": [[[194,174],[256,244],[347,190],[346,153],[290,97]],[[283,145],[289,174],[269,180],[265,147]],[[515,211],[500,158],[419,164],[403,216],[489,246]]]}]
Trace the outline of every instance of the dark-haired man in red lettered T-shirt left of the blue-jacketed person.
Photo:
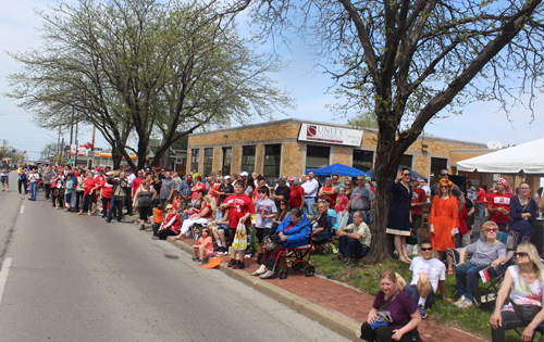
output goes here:
[{"label": "dark-haired man in red lettered T-shirt left of the blue-jacketed person", "polygon": [[[231,231],[236,231],[238,223],[243,223],[246,226],[249,225],[249,216],[255,213],[255,206],[251,199],[244,193],[244,181],[236,180],[234,182],[234,193],[227,197],[223,203],[219,206],[221,211],[228,210],[228,228]],[[231,237],[235,235],[232,233]],[[238,258],[236,258],[236,252],[238,253]],[[244,256],[246,255],[246,250],[235,250],[231,249],[231,262],[228,267],[243,269]]]}]

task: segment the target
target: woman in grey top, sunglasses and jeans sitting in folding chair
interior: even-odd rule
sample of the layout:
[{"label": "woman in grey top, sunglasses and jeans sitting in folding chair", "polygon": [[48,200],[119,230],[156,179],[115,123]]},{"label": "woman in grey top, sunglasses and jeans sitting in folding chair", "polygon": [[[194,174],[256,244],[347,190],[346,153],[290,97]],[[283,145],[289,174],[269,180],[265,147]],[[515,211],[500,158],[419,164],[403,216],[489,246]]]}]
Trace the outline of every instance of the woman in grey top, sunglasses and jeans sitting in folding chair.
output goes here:
[{"label": "woman in grey top, sunglasses and jeans sitting in folding chair", "polygon": [[[492,220],[482,225],[484,239],[466,246],[459,252],[459,264],[455,269],[457,293],[461,296],[454,304],[459,308],[472,306],[474,291],[480,280],[480,271],[490,268],[490,276],[496,276],[494,268],[506,261],[506,245],[497,240],[498,226]],[[465,263],[465,254],[472,254],[470,262]]]}]

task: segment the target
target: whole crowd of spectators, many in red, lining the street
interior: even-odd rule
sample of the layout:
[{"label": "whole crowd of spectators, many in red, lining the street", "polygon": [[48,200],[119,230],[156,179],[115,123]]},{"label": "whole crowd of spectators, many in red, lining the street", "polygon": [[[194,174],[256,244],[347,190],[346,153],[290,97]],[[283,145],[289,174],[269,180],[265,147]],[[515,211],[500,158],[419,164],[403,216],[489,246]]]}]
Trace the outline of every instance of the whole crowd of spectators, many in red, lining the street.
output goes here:
[{"label": "whole crowd of spectators, many in red, lining the street", "polygon": [[[1,172],[4,177],[9,168]],[[128,216],[135,212],[138,214],[135,223],[141,230],[149,225],[152,239],[195,238],[198,241],[193,258],[199,264],[208,256],[230,253],[228,267],[245,268],[246,250],[233,242],[239,241],[239,235],[246,239],[255,228],[259,268],[251,275],[263,279],[274,276],[276,257],[282,251],[308,244],[310,235],[316,249],[323,242],[337,240],[338,253],[333,259],[346,265],[364,257],[372,248],[375,183],[363,175],[356,179],[332,175],[320,183],[313,172],[309,172],[300,177],[279,177],[275,186],[269,186],[257,173],[223,176],[218,172],[202,177],[193,172],[183,177],[160,167],[134,172],[21,165],[17,175],[18,191],[28,194],[30,201],[36,200],[38,186],[42,186],[46,199],[51,200],[55,210],[101,215],[107,223],[113,218],[121,223],[125,212]],[[542,189],[536,202],[531,199],[531,187],[526,181],[514,194],[503,178],[496,181],[494,190],[479,187],[477,191],[470,183],[459,188],[448,176],[448,170],[443,169],[440,181],[428,187],[424,179],[401,168],[388,188],[392,206],[386,233],[394,236],[398,258],[409,264],[412,278],[408,282],[392,270],[381,275],[381,291],[361,327],[368,341],[417,338],[417,326],[426,317],[435,294],[440,291],[443,300],[453,302],[446,296],[446,276],[456,276],[459,299],[454,304],[470,307],[479,271],[487,269],[491,276],[497,276],[500,267],[505,267],[507,249],[514,251],[517,266],[503,270],[506,277],[491,319],[494,340],[504,340],[502,324],[527,326],[524,337],[541,329],[544,313],[539,312],[528,320],[524,312],[520,314],[515,308],[517,304],[526,305],[528,296],[542,307],[542,264],[535,248],[529,243],[536,212],[544,210]],[[425,206],[430,207],[429,239],[421,237]],[[254,215],[255,224],[249,228]],[[471,243],[477,215],[490,218],[482,225],[482,238]],[[345,220],[341,225],[342,218]],[[500,232],[509,236],[508,246],[497,238]],[[271,244],[270,237],[275,237],[276,242]],[[448,251],[456,248],[459,259],[454,270]],[[466,261],[467,255],[470,261]],[[517,304],[512,309],[499,307],[510,288]],[[380,315],[384,312],[390,324],[376,328],[374,322],[383,319]]]}]

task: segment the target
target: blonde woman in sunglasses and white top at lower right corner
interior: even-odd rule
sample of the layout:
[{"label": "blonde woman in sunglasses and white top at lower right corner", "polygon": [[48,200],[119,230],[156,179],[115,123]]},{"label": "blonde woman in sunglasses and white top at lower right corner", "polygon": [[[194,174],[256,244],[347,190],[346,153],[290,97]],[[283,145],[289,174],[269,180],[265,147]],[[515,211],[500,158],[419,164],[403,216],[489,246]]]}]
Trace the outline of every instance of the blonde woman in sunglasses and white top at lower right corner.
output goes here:
[{"label": "blonde woman in sunglasses and white top at lower right corner", "polygon": [[[544,265],[536,248],[521,243],[515,253],[516,264],[509,266],[498,291],[495,312],[490,318],[493,342],[505,342],[505,331],[522,328],[521,341],[532,341],[535,331],[544,332]],[[511,290],[511,292],[510,292]],[[503,307],[510,292],[511,304]],[[541,334],[540,342],[544,342]]]}]

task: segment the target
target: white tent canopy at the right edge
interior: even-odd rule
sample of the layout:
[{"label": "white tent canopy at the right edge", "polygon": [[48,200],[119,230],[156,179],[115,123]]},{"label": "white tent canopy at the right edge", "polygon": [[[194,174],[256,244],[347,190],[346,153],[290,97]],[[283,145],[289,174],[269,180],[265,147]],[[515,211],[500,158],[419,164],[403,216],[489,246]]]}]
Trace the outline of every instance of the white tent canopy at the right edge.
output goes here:
[{"label": "white tent canopy at the right edge", "polygon": [[544,176],[544,138],[457,163],[457,170]]}]

